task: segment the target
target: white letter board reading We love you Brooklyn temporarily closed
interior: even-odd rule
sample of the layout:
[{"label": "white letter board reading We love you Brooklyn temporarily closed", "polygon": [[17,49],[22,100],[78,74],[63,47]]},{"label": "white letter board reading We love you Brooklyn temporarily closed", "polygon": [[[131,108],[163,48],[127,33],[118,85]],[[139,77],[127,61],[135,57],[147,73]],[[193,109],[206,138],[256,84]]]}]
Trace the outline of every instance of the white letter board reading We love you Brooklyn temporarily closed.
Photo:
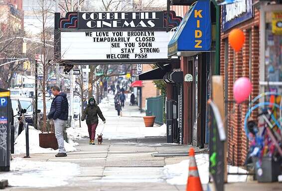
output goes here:
[{"label": "white letter board reading We love you Brooklyn temporarily closed", "polygon": [[167,59],[168,42],[165,31],[61,32],[61,59]]}]

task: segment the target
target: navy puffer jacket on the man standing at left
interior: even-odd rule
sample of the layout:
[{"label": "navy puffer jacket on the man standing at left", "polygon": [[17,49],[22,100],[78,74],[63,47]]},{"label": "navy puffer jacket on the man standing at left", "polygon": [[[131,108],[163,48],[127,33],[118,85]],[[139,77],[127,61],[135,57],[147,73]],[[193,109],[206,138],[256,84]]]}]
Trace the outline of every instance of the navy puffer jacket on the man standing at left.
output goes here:
[{"label": "navy puffer jacket on the man standing at left", "polygon": [[69,107],[68,107],[67,94],[61,92],[52,101],[50,112],[48,114],[48,119],[67,120],[68,115],[69,115]]}]

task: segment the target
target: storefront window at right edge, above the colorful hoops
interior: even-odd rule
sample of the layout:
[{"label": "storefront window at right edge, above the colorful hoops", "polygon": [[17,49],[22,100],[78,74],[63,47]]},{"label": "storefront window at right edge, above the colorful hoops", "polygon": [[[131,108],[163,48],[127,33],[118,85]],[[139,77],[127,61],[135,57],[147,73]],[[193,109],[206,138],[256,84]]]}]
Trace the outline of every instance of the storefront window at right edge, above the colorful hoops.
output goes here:
[{"label": "storefront window at right edge, above the colorful hoops", "polygon": [[[273,12],[266,12],[265,81],[282,81],[282,36],[273,33]],[[272,88],[279,84],[270,83]],[[274,85],[274,86],[273,86]]]}]

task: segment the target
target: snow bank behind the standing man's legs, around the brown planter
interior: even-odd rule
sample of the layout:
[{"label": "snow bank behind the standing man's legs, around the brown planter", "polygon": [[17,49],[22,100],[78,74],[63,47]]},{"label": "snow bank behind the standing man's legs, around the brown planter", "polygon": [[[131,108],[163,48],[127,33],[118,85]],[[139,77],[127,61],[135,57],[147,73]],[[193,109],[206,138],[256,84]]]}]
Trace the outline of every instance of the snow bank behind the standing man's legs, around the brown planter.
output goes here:
[{"label": "snow bank behind the standing man's legs, around the brown planter", "polygon": [[[52,148],[42,148],[39,146],[39,134],[41,133],[40,130],[35,129],[32,126],[28,127],[28,134],[29,134],[29,153],[57,153],[59,149],[54,150]],[[72,140],[67,143],[64,142],[64,146],[67,152],[77,151],[75,146],[78,143],[74,143]],[[14,154],[25,154],[25,130],[23,130],[20,135],[15,140],[14,145]]]}]

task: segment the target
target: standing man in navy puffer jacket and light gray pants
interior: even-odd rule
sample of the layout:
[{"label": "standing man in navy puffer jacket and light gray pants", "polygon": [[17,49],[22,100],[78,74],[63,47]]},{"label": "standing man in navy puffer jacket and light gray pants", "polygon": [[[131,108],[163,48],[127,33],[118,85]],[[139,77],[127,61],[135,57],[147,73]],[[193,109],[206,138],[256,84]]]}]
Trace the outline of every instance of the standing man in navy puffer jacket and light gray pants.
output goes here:
[{"label": "standing man in navy puffer jacket and light gray pants", "polygon": [[52,101],[48,119],[53,119],[54,121],[55,136],[59,146],[59,153],[55,156],[65,157],[67,154],[64,147],[63,130],[69,115],[67,94],[60,92],[60,88],[57,86],[51,87],[51,90],[55,98]]}]

